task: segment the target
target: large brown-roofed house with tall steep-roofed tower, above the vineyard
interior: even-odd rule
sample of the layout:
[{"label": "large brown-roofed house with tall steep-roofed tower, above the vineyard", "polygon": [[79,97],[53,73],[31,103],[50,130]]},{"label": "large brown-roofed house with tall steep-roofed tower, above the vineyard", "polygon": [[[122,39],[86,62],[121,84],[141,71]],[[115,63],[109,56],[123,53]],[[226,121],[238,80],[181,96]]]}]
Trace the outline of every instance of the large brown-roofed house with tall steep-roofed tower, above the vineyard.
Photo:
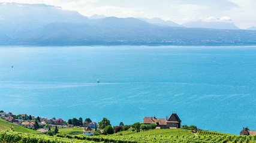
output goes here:
[{"label": "large brown-roofed house with tall steep-roofed tower, above the vineyard", "polygon": [[144,117],[143,119],[144,124],[155,124],[156,128],[158,129],[177,129],[180,128],[181,120],[176,113],[171,114],[170,117],[166,117],[166,119],[156,117]]}]

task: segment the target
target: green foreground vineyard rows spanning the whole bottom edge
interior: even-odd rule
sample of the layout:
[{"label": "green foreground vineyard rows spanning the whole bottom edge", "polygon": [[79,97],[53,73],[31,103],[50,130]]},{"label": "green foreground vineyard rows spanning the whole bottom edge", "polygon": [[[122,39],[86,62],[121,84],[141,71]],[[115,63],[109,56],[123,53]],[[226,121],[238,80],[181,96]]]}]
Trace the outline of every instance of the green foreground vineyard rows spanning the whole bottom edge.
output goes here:
[{"label": "green foreground vineyard rows spanning the whole bottom edge", "polygon": [[[75,131],[76,132],[76,131]],[[238,136],[227,133],[212,131],[198,132],[195,136],[189,130],[183,129],[153,129],[144,132],[132,132],[127,130],[113,135],[83,136],[65,135],[58,133],[56,136],[37,135],[32,133],[20,133],[10,130],[0,130],[0,142],[114,142],[114,143],[136,143],[136,142],[228,142],[228,143],[255,143],[254,136]]]}]

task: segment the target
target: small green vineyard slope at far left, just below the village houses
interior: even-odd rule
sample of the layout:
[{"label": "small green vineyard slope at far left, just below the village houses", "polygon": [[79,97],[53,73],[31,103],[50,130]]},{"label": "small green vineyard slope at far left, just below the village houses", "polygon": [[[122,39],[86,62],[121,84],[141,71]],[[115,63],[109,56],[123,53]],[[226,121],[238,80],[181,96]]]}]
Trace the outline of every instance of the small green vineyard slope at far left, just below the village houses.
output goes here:
[{"label": "small green vineyard slope at far left, just below the village houses", "polygon": [[41,132],[37,132],[32,129],[24,128],[23,126],[20,126],[20,125],[15,125],[15,124],[7,122],[3,119],[0,119],[0,130],[13,130],[15,132],[22,132],[22,133],[41,134]]}]

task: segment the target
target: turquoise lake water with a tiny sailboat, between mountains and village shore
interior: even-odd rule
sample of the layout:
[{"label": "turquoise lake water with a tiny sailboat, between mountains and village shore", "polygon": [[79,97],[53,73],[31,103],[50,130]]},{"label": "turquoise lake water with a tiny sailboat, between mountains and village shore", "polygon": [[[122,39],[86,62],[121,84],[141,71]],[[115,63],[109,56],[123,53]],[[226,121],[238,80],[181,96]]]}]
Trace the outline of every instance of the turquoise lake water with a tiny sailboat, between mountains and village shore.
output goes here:
[{"label": "turquoise lake water with a tiny sailboat, between mountains and village shore", "polygon": [[48,119],[129,125],[177,113],[182,125],[239,134],[256,130],[256,46],[1,46],[0,99],[0,110]]}]

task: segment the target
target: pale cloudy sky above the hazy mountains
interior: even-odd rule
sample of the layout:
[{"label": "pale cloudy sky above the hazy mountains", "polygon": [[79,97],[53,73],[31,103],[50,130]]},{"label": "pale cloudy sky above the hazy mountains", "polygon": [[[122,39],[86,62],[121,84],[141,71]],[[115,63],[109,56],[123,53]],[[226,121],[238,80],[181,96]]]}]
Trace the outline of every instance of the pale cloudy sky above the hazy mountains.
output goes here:
[{"label": "pale cloudy sky above the hazy mountains", "polygon": [[85,16],[136,17],[189,21],[232,22],[240,29],[256,27],[255,0],[1,0],[21,4],[47,4],[75,10]]}]

